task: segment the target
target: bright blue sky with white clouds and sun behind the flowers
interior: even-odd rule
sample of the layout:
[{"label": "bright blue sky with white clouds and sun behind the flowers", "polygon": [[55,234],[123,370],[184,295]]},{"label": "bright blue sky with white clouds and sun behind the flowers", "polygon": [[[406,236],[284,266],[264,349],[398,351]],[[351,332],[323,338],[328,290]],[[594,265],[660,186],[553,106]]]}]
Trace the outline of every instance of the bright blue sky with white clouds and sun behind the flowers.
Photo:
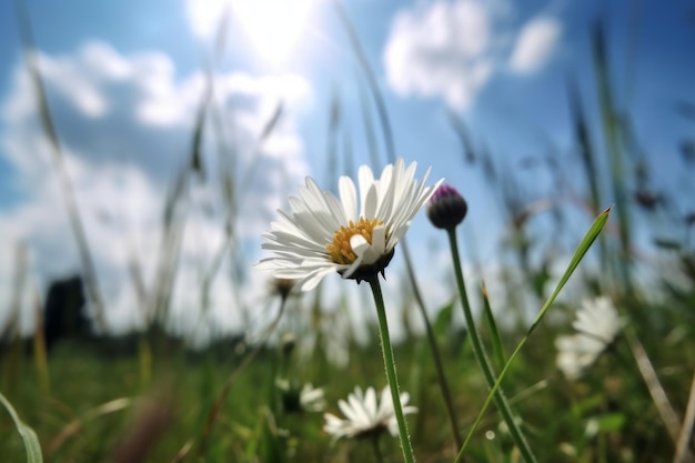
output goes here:
[{"label": "bright blue sky with white clouds and sun behind the flowers", "polygon": [[[325,0],[231,1],[222,53],[214,32],[224,0],[27,2],[40,66],[59,135],[92,243],[112,301],[115,331],[141,323],[128,283],[128,264],[140,259],[150,282],[154,272],[163,198],[189,152],[205,67],[213,69],[215,104],[226,142],[235,148],[236,181],[262,158],[238,221],[239,253],[258,259],[259,234],[285,204],[304,175],[334,188],[326,157],[332,101],[340,101],[338,172],[370,162],[361,94],[374,104],[335,8]],[[260,12],[253,8],[260,6]],[[560,194],[543,169],[522,161],[548,157],[570,180],[578,164],[567,107],[567,77],[578,83],[595,117],[591,28],[606,27],[613,87],[632,118],[656,187],[692,190],[678,143],[693,121],[678,102],[695,102],[695,6],[687,1],[345,0],[348,16],[373,67],[391,118],[396,152],[419,162],[432,179],[446,178],[471,204],[472,229],[485,236],[482,259],[494,262],[502,233],[500,214],[480,165],[463,160],[449,113],[465,121],[476,151],[525,178],[530,199]],[[0,6],[0,304],[10,298],[17,243],[26,243],[36,286],[79,269],[36,105],[22,72],[20,34],[12,2]],[[256,154],[254,142],[283,102],[279,124]],[[380,155],[385,159],[376,127]],[[204,145],[209,175],[221,169],[212,138]],[[345,140],[352,157],[344,159]],[[600,143],[601,140],[596,140]],[[574,163],[574,164],[573,164]],[[246,171],[248,172],[248,171]],[[521,172],[521,173],[520,173]],[[570,182],[572,183],[572,181]],[[581,191],[582,183],[573,185]],[[180,286],[195,285],[200,268],[223,241],[215,189],[191,193]],[[606,204],[607,205],[607,204]],[[208,208],[208,209],[207,209]],[[205,210],[213,210],[211,214]],[[414,253],[425,259],[437,238],[426,220],[413,225]],[[578,218],[590,222],[588,217]],[[580,223],[580,222],[578,222]],[[580,230],[584,229],[581,223]],[[491,231],[494,231],[491,233]],[[580,232],[577,232],[580,233]],[[494,265],[494,263],[493,263]],[[249,276],[252,278],[252,276]],[[224,275],[215,280],[213,319],[232,328],[230,301],[240,303]],[[262,279],[252,283],[260,298]],[[445,292],[442,290],[442,292]],[[178,294],[181,313],[195,295]],[[188,299],[187,299],[188,298]],[[246,300],[244,300],[246,301]],[[241,302],[241,303],[248,303]],[[188,309],[187,309],[188,308]],[[191,315],[192,316],[192,315]],[[30,320],[31,316],[27,315]],[[185,316],[184,316],[185,319]],[[0,318],[0,320],[2,320]],[[189,319],[185,319],[189,320]],[[30,324],[30,322],[28,322]],[[182,322],[185,324],[187,322]]]}]

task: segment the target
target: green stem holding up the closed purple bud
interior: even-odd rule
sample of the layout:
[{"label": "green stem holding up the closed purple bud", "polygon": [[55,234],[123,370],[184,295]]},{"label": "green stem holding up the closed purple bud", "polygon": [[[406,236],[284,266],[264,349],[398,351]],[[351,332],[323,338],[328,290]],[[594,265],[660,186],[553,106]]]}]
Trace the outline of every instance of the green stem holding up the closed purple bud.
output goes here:
[{"label": "green stem holding up the closed purple bud", "polygon": [[[455,227],[452,227],[452,228],[449,228],[446,232],[449,234],[449,243],[451,246],[451,253],[452,253],[452,258],[454,261],[454,271],[456,273],[456,284],[459,285],[459,292],[461,294],[461,304],[463,305],[463,314],[465,316],[466,326],[469,328],[469,336],[471,338],[473,352],[475,354],[475,359],[477,360],[477,363],[480,364],[483,375],[485,376],[487,386],[492,389],[495,386],[495,383],[496,383],[495,373],[485,353],[483,342],[481,341],[477,330],[475,329],[475,320],[473,319],[473,311],[471,310],[471,303],[469,302],[469,295],[466,293],[465,284],[463,282],[463,271],[461,268],[461,259],[459,258],[459,242],[456,240],[456,229]],[[524,434],[522,433],[521,429],[514,421],[514,414],[512,413],[512,409],[510,407],[510,404],[507,403],[506,397],[504,396],[502,392],[502,389],[497,389],[495,391],[493,395],[493,400],[495,401],[495,405],[497,406],[500,414],[502,414],[504,422],[510,429],[510,434],[512,435],[512,439],[516,443],[516,446],[518,447],[523,459],[528,463],[536,462],[536,457],[531,451],[531,447],[528,446],[528,443],[526,442]],[[464,446],[461,449],[461,452],[459,453],[456,461],[460,461],[461,457],[463,456],[463,450],[465,449],[465,445],[470,441],[471,435],[474,431],[475,431],[475,427],[471,429],[471,432],[466,436]]]}]

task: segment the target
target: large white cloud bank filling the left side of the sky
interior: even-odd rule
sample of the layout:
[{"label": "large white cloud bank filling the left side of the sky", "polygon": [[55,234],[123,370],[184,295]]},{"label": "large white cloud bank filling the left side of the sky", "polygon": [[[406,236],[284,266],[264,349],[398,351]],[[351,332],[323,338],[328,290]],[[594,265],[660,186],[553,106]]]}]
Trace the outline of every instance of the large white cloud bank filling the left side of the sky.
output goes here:
[{"label": "large white cloud bank filling the left side of the sky", "polygon": [[[127,331],[142,322],[129,265],[137,260],[145,288],[153,291],[161,253],[171,252],[161,248],[164,201],[179,169],[189,161],[205,79],[201,72],[179,76],[163,53],[125,57],[102,42],[87,43],[70,56],[40,53],[39,62],[107,302],[107,319],[114,332]],[[189,321],[200,316],[201,278],[228,236],[229,207],[221,174],[229,173],[236,197],[243,198],[228,253],[245,259],[246,244],[255,241],[258,245],[274,210],[308,173],[294,121],[298,109],[311,97],[302,78],[228,73],[215,76],[214,83],[216,119],[211,112],[208,121],[219,121],[221,131],[207,127],[202,151],[208,175],[204,180],[192,177],[191,190],[182,200],[185,227],[172,311],[189,314]],[[284,103],[282,118],[259,144],[279,101]],[[19,242],[28,244],[30,276],[43,291],[52,279],[78,272],[80,262],[51,148],[20,63],[0,114],[2,153],[26,197],[12,210],[0,210],[0,235],[8,249]],[[242,185],[244,191],[239,190]],[[221,330],[240,323],[239,299],[233,298],[239,283],[230,278],[230,266],[228,255],[210,293],[208,322]],[[0,290],[11,285],[12,270],[0,265]],[[249,278],[260,276],[252,273]],[[30,308],[27,303],[24,310]],[[182,333],[192,334],[192,328],[183,324]]]}]

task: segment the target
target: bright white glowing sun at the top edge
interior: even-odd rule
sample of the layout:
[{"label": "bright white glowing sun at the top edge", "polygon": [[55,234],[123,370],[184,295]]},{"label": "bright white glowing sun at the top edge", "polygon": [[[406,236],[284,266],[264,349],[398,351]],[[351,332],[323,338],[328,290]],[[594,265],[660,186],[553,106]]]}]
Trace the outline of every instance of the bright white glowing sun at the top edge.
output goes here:
[{"label": "bright white glowing sun at the top edge", "polygon": [[264,61],[288,61],[318,0],[230,0],[231,13]]}]

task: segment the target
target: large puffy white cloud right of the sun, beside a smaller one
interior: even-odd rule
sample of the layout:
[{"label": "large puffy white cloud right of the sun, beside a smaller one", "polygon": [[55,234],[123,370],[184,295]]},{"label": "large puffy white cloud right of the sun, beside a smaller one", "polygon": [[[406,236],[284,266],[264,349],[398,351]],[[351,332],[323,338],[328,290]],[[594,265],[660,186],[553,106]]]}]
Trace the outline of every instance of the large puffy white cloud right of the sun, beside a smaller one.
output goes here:
[{"label": "large puffy white cloud right of the sun, beside a smaller one", "polygon": [[500,2],[435,1],[402,10],[384,50],[386,79],[401,95],[441,97],[467,108],[487,82],[504,42],[497,23],[506,17]]}]

